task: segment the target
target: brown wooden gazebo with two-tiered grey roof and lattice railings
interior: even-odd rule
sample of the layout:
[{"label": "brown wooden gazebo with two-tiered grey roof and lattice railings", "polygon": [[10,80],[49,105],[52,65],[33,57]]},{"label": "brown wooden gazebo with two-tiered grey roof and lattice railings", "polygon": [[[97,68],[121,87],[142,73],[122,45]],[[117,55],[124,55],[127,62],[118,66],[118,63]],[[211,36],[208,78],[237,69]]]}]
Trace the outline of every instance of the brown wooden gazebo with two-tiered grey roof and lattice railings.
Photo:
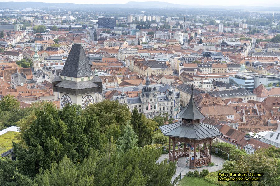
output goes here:
[{"label": "brown wooden gazebo with two-tiered grey roof and lattice railings", "polygon": [[[179,157],[189,157],[190,148],[186,145],[189,143],[194,147],[194,160],[189,157],[189,166],[195,168],[207,166],[211,162],[212,140],[217,136],[221,136],[222,133],[216,127],[200,122],[200,119],[205,118],[205,116],[195,105],[193,98],[194,87],[192,86],[191,89],[192,95],[188,105],[177,114],[182,120],[159,128],[165,136],[169,137],[169,160],[175,161]],[[178,142],[184,142],[184,147],[175,149],[175,144]],[[204,143],[204,148],[207,143],[210,145],[209,155],[204,150],[201,150],[200,157],[195,157],[196,147],[198,147],[199,143]]]}]

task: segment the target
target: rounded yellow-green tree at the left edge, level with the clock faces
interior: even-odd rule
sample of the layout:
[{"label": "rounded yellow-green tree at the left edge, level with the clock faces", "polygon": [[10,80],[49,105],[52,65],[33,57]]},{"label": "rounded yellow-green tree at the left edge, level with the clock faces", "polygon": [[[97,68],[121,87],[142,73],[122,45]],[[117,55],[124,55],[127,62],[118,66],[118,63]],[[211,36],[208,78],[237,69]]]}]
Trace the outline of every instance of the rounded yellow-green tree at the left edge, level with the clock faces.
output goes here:
[{"label": "rounded yellow-green tree at the left edge, level with the clock faces", "polygon": [[2,111],[16,111],[19,109],[19,102],[12,95],[4,96],[0,100],[0,112]]}]

